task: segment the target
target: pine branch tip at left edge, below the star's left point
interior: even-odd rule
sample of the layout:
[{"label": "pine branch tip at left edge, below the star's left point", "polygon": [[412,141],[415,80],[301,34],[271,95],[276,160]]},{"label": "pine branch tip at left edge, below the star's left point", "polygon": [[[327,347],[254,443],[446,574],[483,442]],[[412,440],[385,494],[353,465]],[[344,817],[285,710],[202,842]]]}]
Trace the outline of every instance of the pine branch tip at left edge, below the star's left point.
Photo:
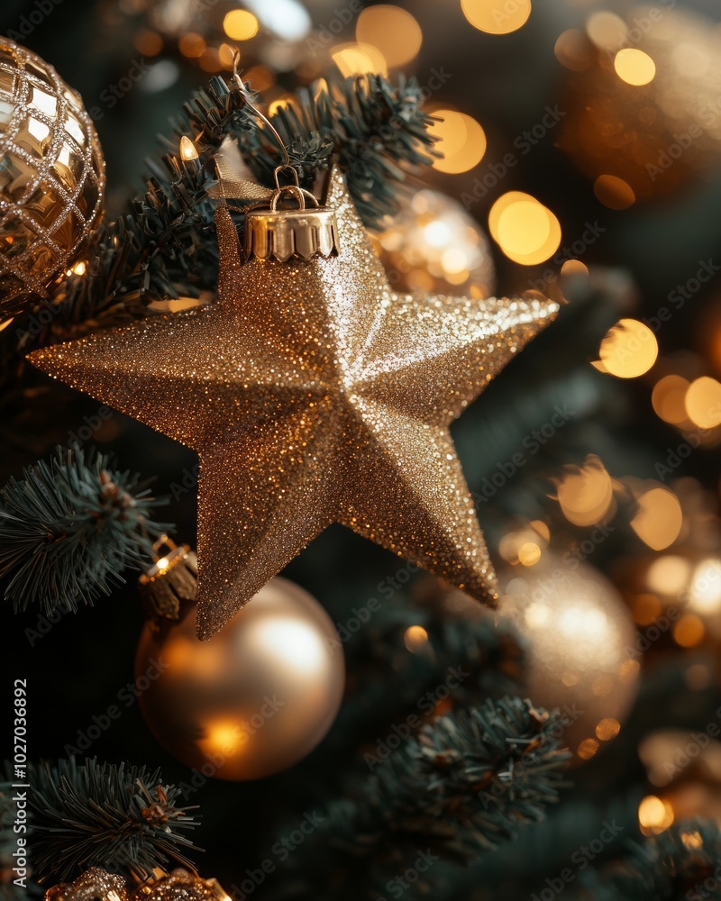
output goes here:
[{"label": "pine branch tip at left edge, below the star's left point", "polygon": [[126,567],[169,530],[151,515],[165,503],[104,454],[59,448],[0,489],[0,577],[15,610],[76,611],[109,594]]}]

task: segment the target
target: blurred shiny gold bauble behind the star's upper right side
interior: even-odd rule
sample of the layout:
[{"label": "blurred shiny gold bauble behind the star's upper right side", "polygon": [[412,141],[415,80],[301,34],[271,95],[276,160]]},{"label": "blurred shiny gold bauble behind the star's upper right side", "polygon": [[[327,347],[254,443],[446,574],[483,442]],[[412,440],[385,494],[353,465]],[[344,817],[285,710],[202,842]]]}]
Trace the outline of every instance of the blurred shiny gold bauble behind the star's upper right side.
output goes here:
[{"label": "blurred shiny gold bauble behind the star's upper right side", "polygon": [[496,288],[488,238],[457,200],[418,191],[373,245],[397,291],[490,297]]}]

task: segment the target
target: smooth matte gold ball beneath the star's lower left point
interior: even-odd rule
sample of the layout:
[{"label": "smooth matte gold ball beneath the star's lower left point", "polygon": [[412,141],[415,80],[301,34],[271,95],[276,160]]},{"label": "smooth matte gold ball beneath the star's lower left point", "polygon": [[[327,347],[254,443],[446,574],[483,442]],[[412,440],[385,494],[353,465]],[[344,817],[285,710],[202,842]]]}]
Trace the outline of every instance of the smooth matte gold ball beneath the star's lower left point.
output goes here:
[{"label": "smooth matte gold ball beneath the star's lower left point", "polygon": [[148,621],[135,671],[160,744],[203,775],[232,780],[269,776],[312,751],[345,681],[330,617],[284,578],[207,642],[196,638],[195,606],[178,623]]}]

